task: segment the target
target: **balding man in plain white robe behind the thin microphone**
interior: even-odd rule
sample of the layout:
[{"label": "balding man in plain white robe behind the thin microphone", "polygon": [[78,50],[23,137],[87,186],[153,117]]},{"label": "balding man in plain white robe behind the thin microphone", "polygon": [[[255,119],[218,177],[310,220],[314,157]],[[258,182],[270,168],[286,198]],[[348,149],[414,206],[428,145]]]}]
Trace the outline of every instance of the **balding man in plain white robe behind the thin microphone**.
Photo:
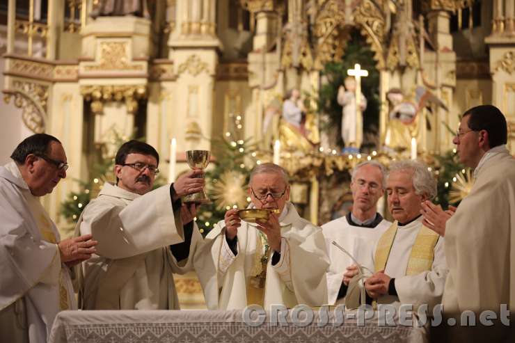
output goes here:
[{"label": "balding man in plain white robe behind the thin microphone", "polygon": [[358,266],[351,257],[333,245],[333,241],[347,250],[356,262],[363,266],[362,272],[366,276],[370,276],[374,271],[374,246],[381,234],[391,225],[377,213],[377,201],[384,194],[385,173],[385,168],[377,161],[359,163],[351,175],[351,212],[347,216],[322,225],[331,260],[327,271],[329,305],[343,303],[349,281],[358,274]]}]

